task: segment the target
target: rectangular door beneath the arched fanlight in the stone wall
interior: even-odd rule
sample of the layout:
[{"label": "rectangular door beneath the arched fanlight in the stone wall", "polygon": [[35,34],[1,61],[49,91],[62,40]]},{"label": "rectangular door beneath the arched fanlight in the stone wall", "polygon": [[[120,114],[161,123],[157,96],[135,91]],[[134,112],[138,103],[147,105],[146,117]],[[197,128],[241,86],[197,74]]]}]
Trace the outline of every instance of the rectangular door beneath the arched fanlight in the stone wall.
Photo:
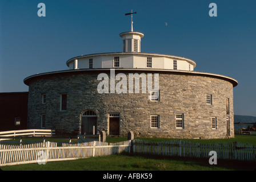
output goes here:
[{"label": "rectangular door beneath the arched fanlight in the stone wall", "polygon": [[94,134],[97,134],[97,117],[82,117],[81,134],[93,135],[93,126]]}]

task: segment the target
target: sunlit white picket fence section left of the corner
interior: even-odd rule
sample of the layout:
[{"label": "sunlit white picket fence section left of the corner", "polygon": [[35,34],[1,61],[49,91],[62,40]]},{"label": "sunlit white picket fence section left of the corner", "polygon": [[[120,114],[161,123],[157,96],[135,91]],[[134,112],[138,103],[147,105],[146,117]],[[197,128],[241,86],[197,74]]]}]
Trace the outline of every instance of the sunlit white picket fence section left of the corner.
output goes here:
[{"label": "sunlit white picket fence section left of the corner", "polygon": [[130,147],[131,140],[111,144],[98,141],[77,144],[63,143],[62,147],[57,147],[56,142],[19,146],[0,144],[0,166],[28,163],[42,164],[59,160],[120,154],[121,152],[130,152]]}]

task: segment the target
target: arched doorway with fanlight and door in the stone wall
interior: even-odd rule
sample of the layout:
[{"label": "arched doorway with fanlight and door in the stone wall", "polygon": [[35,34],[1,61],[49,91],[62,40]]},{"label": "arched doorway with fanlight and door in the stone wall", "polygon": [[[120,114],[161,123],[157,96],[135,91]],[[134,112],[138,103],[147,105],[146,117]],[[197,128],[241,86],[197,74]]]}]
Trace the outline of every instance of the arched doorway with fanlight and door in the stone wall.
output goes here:
[{"label": "arched doorway with fanlight and door in the stone wall", "polygon": [[81,135],[97,134],[97,115],[92,110],[86,110],[81,116]]}]

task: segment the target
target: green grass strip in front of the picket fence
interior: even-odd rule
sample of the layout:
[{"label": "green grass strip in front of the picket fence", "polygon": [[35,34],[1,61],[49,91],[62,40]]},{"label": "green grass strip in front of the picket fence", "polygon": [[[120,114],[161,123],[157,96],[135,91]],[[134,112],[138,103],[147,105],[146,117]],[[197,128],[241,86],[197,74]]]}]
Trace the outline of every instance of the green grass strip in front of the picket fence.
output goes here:
[{"label": "green grass strip in front of the picket fence", "polygon": [[3,171],[234,171],[254,170],[255,163],[218,160],[210,165],[209,159],[162,158],[159,156],[109,155],[95,158],[20,164],[1,167]]}]

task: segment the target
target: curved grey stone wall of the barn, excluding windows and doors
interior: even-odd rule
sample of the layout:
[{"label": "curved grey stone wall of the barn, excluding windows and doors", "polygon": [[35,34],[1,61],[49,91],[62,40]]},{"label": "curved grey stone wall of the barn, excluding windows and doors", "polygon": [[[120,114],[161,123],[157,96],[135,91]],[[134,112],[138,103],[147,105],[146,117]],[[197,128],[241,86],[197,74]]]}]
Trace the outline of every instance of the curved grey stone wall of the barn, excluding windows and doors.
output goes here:
[{"label": "curved grey stone wall of the barn, excluding windows and doors", "polygon": [[[109,113],[119,113],[120,135],[133,131],[135,137],[225,138],[228,116],[230,137],[234,137],[233,84],[229,81],[206,75],[162,72],[159,73],[160,100],[150,101],[149,93],[99,94],[97,86],[101,81],[97,77],[103,72],[110,75],[109,71],[74,71],[31,78],[29,128],[41,129],[41,114],[45,114],[46,129],[75,134],[81,131],[82,113],[93,110],[97,114],[97,131],[106,134],[109,134]],[[121,72],[127,79],[128,73],[142,73]],[[46,104],[42,104],[43,93],[46,93]],[[60,110],[61,93],[67,93],[66,111]],[[206,104],[206,94],[212,95],[212,105]],[[226,115],[226,98],[230,99],[229,115]],[[176,128],[175,114],[183,114],[183,129]],[[151,115],[159,115],[158,128],[151,128]],[[211,128],[211,117],[217,117],[217,129]]]}]

